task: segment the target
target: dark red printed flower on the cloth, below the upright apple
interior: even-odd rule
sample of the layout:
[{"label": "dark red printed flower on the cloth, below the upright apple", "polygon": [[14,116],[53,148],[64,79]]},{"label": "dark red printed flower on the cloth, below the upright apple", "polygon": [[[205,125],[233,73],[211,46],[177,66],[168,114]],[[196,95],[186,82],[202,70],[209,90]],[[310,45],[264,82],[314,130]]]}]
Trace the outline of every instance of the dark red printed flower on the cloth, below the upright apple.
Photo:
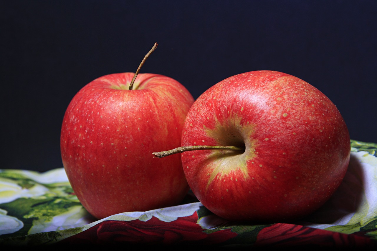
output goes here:
[{"label": "dark red printed flower on the cloth, below the upright apple", "polygon": [[107,243],[141,243],[141,244],[216,244],[235,236],[230,229],[204,233],[197,224],[198,214],[179,217],[172,222],[164,222],[156,217],[143,222],[141,220],[105,220],[97,225],[68,237],[60,244],[107,244]]}]

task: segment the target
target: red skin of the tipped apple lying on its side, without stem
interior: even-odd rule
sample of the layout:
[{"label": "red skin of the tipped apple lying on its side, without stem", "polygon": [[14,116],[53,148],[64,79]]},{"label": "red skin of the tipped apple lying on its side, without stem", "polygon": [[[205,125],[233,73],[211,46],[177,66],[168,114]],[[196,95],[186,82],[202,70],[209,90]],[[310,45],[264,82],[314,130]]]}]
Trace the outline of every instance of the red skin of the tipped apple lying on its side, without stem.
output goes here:
[{"label": "red skin of the tipped apple lying on its side, without stem", "polygon": [[182,146],[236,145],[245,152],[181,153],[189,185],[228,220],[287,222],[319,208],[339,187],[350,138],[339,110],[307,82],[276,71],[227,78],[195,101]]}]

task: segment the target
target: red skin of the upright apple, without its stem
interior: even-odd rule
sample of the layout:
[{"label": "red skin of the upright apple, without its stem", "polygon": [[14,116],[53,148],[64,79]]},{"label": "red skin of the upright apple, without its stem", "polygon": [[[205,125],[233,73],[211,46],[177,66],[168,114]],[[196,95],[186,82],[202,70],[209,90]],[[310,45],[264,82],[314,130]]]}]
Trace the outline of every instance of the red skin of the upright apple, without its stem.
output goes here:
[{"label": "red skin of the upright apple, without its stem", "polygon": [[178,81],[157,74],[115,73],[93,80],[72,99],[61,127],[61,158],[74,193],[97,219],[179,203],[189,190],[178,147],[194,102]]}]

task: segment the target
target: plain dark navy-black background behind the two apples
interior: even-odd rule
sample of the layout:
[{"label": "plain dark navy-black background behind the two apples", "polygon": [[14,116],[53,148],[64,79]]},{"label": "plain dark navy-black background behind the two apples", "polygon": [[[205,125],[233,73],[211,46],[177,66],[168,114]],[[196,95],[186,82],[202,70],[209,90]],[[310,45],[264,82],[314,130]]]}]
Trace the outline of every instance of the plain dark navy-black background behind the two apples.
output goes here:
[{"label": "plain dark navy-black background behind the two apples", "polygon": [[175,78],[194,98],[251,70],[321,90],[352,139],[377,142],[377,1],[2,1],[0,169],[62,167],[60,127],[102,75]]}]

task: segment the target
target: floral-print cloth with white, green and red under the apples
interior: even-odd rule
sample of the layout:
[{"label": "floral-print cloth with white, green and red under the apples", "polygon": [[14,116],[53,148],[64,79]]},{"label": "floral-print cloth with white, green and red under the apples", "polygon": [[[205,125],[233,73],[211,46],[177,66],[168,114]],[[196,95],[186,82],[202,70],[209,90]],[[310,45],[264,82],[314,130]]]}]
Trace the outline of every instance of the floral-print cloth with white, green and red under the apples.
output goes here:
[{"label": "floral-print cloth with white, green and red under the apples", "polygon": [[351,141],[336,193],[299,222],[250,225],[208,211],[192,193],[181,205],[94,219],[63,168],[0,170],[0,245],[377,246],[377,144]]}]

